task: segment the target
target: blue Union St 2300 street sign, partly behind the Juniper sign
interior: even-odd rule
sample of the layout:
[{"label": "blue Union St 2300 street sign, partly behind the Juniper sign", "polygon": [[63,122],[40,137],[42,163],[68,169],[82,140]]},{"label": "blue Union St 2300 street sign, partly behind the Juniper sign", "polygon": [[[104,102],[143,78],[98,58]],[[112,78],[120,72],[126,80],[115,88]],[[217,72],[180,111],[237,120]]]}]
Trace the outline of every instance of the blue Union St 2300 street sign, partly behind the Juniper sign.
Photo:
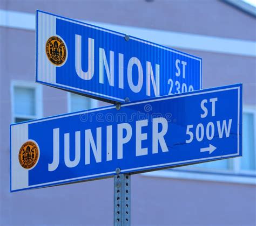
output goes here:
[{"label": "blue Union St 2300 street sign, partly behind the Juniper sign", "polygon": [[36,14],[36,82],[112,103],[201,89],[201,58],[78,20]]}]

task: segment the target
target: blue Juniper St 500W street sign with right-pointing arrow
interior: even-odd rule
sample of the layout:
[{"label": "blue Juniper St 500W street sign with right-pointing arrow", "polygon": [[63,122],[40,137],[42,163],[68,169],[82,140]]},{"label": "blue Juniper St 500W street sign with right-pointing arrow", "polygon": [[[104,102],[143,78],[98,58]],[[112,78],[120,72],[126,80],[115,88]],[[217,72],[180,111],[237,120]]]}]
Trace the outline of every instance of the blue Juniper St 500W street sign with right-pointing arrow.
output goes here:
[{"label": "blue Juniper St 500W street sign with right-pointing arrow", "polygon": [[235,84],[12,124],[11,191],[241,156],[241,96]]}]

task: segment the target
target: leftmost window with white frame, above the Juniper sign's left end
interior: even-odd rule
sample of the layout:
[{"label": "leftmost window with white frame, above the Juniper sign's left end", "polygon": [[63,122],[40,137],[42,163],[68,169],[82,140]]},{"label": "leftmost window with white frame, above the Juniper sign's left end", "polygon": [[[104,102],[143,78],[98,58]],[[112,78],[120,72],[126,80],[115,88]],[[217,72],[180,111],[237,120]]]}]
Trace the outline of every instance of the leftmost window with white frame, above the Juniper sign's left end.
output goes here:
[{"label": "leftmost window with white frame, above the Juniper sign's left end", "polygon": [[35,82],[11,82],[12,122],[42,117],[42,87]]}]

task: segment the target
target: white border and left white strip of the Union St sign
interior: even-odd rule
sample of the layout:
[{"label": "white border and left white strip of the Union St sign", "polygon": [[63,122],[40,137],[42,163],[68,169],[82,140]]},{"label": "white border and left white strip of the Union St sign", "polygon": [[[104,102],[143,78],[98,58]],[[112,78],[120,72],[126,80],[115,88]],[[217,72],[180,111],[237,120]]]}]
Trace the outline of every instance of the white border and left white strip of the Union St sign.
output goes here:
[{"label": "white border and left white strip of the Union St sign", "polygon": [[[49,12],[44,12],[41,10],[37,10],[36,11],[36,82],[38,83],[42,83],[42,84],[46,84],[48,86],[53,86],[56,88],[68,88],[68,90],[73,91],[73,92],[81,92],[84,95],[93,95],[93,96],[97,96],[98,98],[104,98],[105,101],[107,101],[108,99],[110,101],[117,101],[117,102],[125,102],[125,100],[118,98],[118,97],[113,97],[110,95],[106,95],[106,94],[101,94],[101,93],[96,93],[94,91],[90,91],[90,90],[86,90],[86,89],[80,89],[80,88],[76,88],[76,87],[71,87],[71,86],[66,86],[64,84],[59,84],[56,82],[56,70],[55,67],[53,66],[51,63],[48,63],[48,59],[46,57],[45,54],[42,54],[44,52],[44,47],[38,45],[39,43],[46,43],[46,41],[48,40],[48,38],[50,36],[56,36],[56,19],[62,19],[68,22],[71,22],[73,24],[79,24],[79,25],[83,25],[86,27],[90,27],[92,29],[96,29],[99,31],[104,31],[107,33],[111,33],[111,34],[115,34],[117,36],[120,37],[125,37],[125,34],[120,33],[120,32],[116,32],[116,31],[111,31],[109,29],[104,29],[102,27],[98,27],[95,25],[91,25],[91,24],[86,24],[83,22],[79,22],[77,20],[74,19],[70,19],[70,18],[66,18],[66,17],[62,17],[62,16],[58,16],[58,15],[54,15],[52,13]],[[38,25],[40,24],[41,29],[38,29]],[[46,26],[45,24],[48,24],[49,26]],[[44,30],[46,26],[46,31]],[[48,28],[50,27],[50,28]],[[200,62],[200,78],[199,78],[199,86],[200,89],[202,88],[202,59],[196,56],[193,56],[191,54],[188,53],[184,53],[178,50],[173,50],[172,48],[166,47],[166,46],[161,46],[155,43],[151,43],[150,41],[146,41],[140,38],[136,38],[136,37],[132,37],[130,36],[131,40],[135,40],[138,41],[140,43],[144,43],[147,45],[151,45],[157,48],[161,48],[165,51],[170,51],[179,55],[183,55],[184,57],[188,57],[194,60],[198,60]],[[38,54],[41,53],[41,54]],[[82,95],[80,94],[80,95]]]}]

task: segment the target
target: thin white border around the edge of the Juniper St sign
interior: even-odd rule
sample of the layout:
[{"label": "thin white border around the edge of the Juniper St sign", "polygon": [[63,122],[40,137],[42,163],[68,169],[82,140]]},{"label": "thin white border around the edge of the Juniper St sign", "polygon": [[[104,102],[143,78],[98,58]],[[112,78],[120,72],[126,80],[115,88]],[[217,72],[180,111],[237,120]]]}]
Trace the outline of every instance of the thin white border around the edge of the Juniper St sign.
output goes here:
[{"label": "thin white border around the edge of the Juniper St sign", "polygon": [[[226,90],[232,90],[232,89],[237,89],[238,90],[238,123],[237,123],[237,138],[238,138],[238,150],[237,153],[235,154],[227,154],[224,156],[215,156],[215,157],[207,157],[207,158],[200,158],[200,159],[192,159],[192,160],[187,160],[187,161],[178,161],[175,163],[167,163],[167,164],[159,164],[159,165],[151,165],[151,166],[144,166],[144,167],[138,167],[138,168],[130,168],[130,169],[121,169],[121,173],[125,173],[125,172],[131,172],[132,174],[134,173],[140,173],[140,172],[146,172],[146,171],[150,171],[150,169],[161,169],[161,168],[165,168],[165,167],[172,167],[172,166],[178,166],[178,165],[186,165],[186,164],[193,164],[193,163],[198,163],[199,161],[201,162],[205,162],[205,161],[211,161],[212,159],[214,160],[218,160],[218,159],[224,159],[224,158],[230,158],[230,157],[236,157],[236,156],[241,156],[241,140],[239,139],[239,131],[240,131],[240,117],[241,117],[241,112],[242,112],[242,104],[241,104],[241,84],[233,84],[230,86],[225,86],[223,88],[211,88],[211,89],[207,89],[206,91],[203,90],[197,90],[197,91],[193,91],[187,94],[176,94],[176,95],[172,95],[172,96],[167,96],[167,97],[158,97],[158,98],[153,98],[150,100],[145,100],[145,101],[140,101],[140,102],[133,102],[133,103],[127,103],[127,104],[122,104],[122,107],[126,107],[126,106],[131,106],[131,105],[136,105],[136,104],[141,104],[141,103],[150,103],[150,102],[157,102],[157,101],[163,101],[163,100],[171,100],[171,99],[175,99],[175,98],[181,98],[181,97],[186,97],[186,96],[196,96],[196,95],[201,95],[201,94],[208,94],[208,93],[217,93],[220,91],[226,91]],[[90,113],[90,112],[96,112],[96,111],[104,111],[107,109],[113,109],[116,108],[116,105],[112,105],[111,107],[101,107],[101,108],[97,108],[97,109],[92,109],[92,110],[87,110],[87,111],[78,111],[72,114],[64,114],[64,115],[59,115],[59,116],[52,116],[52,117],[47,117],[47,118],[43,118],[43,119],[37,119],[37,120],[32,120],[29,122],[22,122],[22,123],[16,123],[16,124],[11,124],[10,125],[10,135],[12,134],[12,126],[16,126],[16,130],[19,129],[17,128],[17,125],[21,125],[21,127],[25,126],[28,130],[28,125],[32,124],[32,123],[38,123],[38,122],[44,122],[44,121],[49,121],[51,119],[58,119],[58,118],[63,118],[66,116],[75,116],[75,115],[80,115],[83,113]],[[19,126],[18,126],[19,127]],[[13,136],[11,137],[13,139]],[[16,171],[17,173],[17,168],[13,168],[13,164],[12,164],[12,149],[17,149],[17,145],[16,143],[12,144],[11,143],[11,139],[10,139],[10,146],[11,146],[11,192],[16,192],[18,190],[25,190],[25,189],[31,189],[31,188],[39,188],[39,187],[46,187],[46,186],[53,186],[53,185],[59,185],[62,183],[72,183],[72,182],[76,182],[76,181],[82,181],[83,179],[93,179],[93,178],[98,178],[99,176],[102,177],[107,177],[107,176],[112,176],[114,174],[116,174],[115,171],[111,171],[111,172],[106,172],[106,173],[100,173],[100,174],[94,174],[94,175],[87,175],[87,176],[80,176],[78,178],[72,178],[72,179],[65,179],[65,180],[59,180],[59,181],[54,181],[54,182],[47,182],[47,183],[41,183],[39,185],[33,185],[33,186],[27,186],[25,188],[21,188],[21,189],[12,189],[12,181],[14,181],[14,176],[12,174],[12,171]],[[16,150],[17,152],[17,150]],[[139,172],[138,172],[139,171]],[[27,171],[29,172],[29,171]],[[17,175],[16,175],[17,177]],[[27,177],[28,177],[28,173],[27,173]],[[28,181],[28,180],[27,180]]]}]

